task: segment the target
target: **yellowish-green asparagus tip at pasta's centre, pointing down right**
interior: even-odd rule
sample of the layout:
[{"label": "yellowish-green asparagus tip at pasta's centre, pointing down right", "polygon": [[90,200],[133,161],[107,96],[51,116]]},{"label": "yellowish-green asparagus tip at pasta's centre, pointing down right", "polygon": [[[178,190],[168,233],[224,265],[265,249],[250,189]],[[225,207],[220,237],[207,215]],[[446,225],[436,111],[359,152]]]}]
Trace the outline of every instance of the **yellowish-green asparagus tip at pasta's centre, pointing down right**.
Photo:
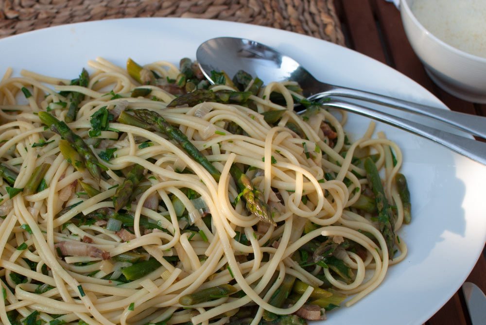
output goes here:
[{"label": "yellowish-green asparagus tip at pasta's centre, pointing down right", "polygon": [[243,193],[242,196],[246,201],[246,208],[250,210],[250,212],[255,213],[261,221],[276,226],[277,223],[275,223],[275,221],[272,219],[270,207],[265,203],[263,194],[259,190],[255,189],[248,176],[246,176],[246,174],[243,173],[243,171],[241,171],[235,164],[231,166],[229,172]]}]

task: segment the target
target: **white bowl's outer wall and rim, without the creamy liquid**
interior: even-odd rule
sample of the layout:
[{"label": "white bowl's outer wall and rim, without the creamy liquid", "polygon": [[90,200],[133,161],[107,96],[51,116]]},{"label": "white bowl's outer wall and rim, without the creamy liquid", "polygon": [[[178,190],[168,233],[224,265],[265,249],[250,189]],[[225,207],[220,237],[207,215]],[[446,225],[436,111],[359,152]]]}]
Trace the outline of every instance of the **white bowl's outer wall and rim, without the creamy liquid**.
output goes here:
[{"label": "white bowl's outer wall and rim, without the creamy liquid", "polygon": [[401,20],[429,76],[456,97],[486,103],[486,58],[458,50],[427,31],[412,13],[412,1],[400,0]]}]

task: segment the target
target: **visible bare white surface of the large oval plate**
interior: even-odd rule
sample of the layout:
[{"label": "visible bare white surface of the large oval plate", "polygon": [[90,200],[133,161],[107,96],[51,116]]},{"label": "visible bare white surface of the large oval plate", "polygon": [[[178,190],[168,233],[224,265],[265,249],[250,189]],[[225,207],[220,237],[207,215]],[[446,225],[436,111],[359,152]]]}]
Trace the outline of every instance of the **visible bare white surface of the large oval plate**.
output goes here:
[{"label": "visible bare white surface of the large oval plate", "polygon": [[[180,18],[104,20],[38,30],[0,40],[0,73],[12,67],[74,78],[87,61],[102,56],[123,66],[183,56],[194,59],[212,37],[238,36],[263,42],[308,68],[318,79],[388,96],[442,105],[399,72],[329,42],[253,25]],[[368,120],[351,117],[348,130],[361,134]],[[382,285],[350,308],[328,314],[324,324],[422,324],[461,286],[486,239],[486,167],[429,140],[387,125],[379,129],[403,150],[413,222],[399,233],[409,247]]]}]

